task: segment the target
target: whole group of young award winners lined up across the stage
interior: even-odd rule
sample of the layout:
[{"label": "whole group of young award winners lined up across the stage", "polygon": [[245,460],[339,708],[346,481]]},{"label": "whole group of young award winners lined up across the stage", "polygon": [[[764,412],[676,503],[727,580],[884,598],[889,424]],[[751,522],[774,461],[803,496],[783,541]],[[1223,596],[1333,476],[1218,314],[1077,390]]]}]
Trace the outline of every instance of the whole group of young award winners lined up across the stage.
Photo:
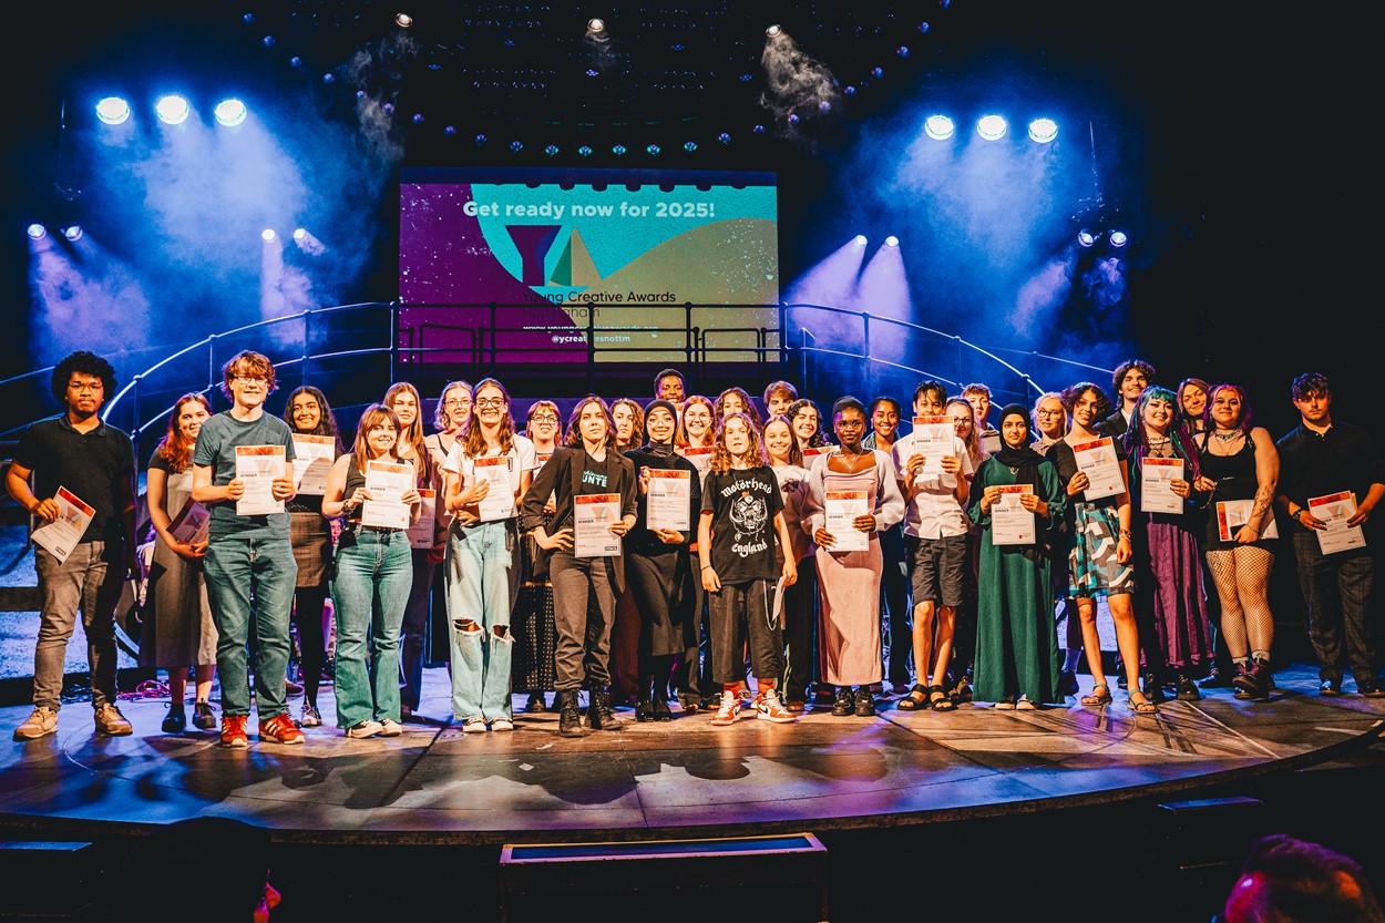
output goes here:
[{"label": "whole group of young award winners lined up across the stage", "polygon": [[[194,726],[219,726],[227,747],[248,746],[251,682],[259,740],[302,743],[323,723],[332,631],[337,726],[399,735],[420,707],[435,596],[465,733],[512,730],[514,694],[542,712],[550,692],[573,737],[618,726],[614,708],[632,703],[638,721],[670,721],[674,697],[713,726],[789,723],[809,701],[870,717],[886,678],[904,711],[1033,710],[1079,692],[1083,656],[1080,703],[1105,705],[1104,599],[1129,707],[1150,714],[1166,694],[1199,697],[1219,654],[1238,697],[1270,694],[1278,511],[1321,693],[1350,674],[1357,693],[1385,694],[1363,531],[1385,496],[1374,439],[1332,419],[1316,373],[1294,380],[1302,421],[1278,442],[1240,387],[1154,378],[1130,360],[1118,406],[1080,381],[1001,407],[994,427],[983,384],[950,396],[924,381],[906,434],[891,396],[842,396],[824,414],[776,381],[762,416],[744,388],[690,395],[673,369],[651,401],[587,395],[565,425],[551,401],[521,425],[500,381],[452,381],[425,434],[422,396],[396,383],[346,443],[314,387],[267,413],[274,366],[241,352],[223,367],[230,409],[183,395],[148,463],[140,658],[168,671],[163,730],[186,729],[191,679]],[[79,611],[97,730],[132,730],[112,611],[137,567],[136,468],[98,416],[114,389],[100,356],[58,363],[65,412],[25,431],[7,475],[39,525],[43,599],[35,707],[15,740],[57,726]]]}]

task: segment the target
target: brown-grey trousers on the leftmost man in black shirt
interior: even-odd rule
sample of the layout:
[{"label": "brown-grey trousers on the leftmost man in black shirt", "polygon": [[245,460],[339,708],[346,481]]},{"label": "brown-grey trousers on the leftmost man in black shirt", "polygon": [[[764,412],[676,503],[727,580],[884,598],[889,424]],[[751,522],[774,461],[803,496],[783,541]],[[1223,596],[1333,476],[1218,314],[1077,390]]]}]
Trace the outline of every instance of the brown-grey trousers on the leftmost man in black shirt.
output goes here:
[{"label": "brown-grey trousers on the leftmost man in black shirt", "polygon": [[33,647],[33,704],[53,711],[62,707],[62,667],[80,608],[91,671],[91,705],[114,705],[115,606],[125,583],[123,543],[82,542],[61,564],[44,549],[35,547],[33,567],[43,606]]}]

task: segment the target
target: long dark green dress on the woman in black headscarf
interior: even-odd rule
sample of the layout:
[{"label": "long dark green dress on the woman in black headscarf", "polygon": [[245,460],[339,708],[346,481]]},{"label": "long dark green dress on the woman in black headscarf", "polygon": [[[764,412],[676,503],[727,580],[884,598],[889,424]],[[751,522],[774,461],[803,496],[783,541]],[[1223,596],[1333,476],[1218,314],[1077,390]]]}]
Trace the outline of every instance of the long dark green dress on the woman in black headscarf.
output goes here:
[{"label": "long dark green dress on the woman in black headscarf", "polygon": [[1048,517],[1036,516],[1035,545],[992,545],[990,514],[981,496],[990,485],[1015,484],[1015,473],[986,459],[971,485],[972,521],[982,527],[978,574],[975,697],[1001,701],[1026,696],[1033,703],[1058,703],[1058,632],[1054,626],[1054,525],[1062,521],[1066,495],[1053,463],[1039,464],[1035,491],[1048,502]]}]

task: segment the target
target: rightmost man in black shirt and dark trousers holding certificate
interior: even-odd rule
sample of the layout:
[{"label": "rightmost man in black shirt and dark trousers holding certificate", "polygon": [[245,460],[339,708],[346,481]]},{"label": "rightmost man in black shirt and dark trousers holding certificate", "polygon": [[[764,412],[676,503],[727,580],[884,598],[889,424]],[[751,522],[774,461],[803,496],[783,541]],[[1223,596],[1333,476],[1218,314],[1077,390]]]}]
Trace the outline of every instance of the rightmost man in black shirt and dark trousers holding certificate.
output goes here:
[{"label": "rightmost man in black shirt and dark trousers holding certificate", "polygon": [[[1385,696],[1375,675],[1371,513],[1385,499],[1385,457],[1370,432],[1332,419],[1332,388],[1316,371],[1291,388],[1299,425],[1277,443],[1277,503],[1295,522],[1294,557],[1317,654],[1319,692],[1337,696],[1352,672],[1361,696]],[[1328,514],[1327,510],[1337,510]]]}]

